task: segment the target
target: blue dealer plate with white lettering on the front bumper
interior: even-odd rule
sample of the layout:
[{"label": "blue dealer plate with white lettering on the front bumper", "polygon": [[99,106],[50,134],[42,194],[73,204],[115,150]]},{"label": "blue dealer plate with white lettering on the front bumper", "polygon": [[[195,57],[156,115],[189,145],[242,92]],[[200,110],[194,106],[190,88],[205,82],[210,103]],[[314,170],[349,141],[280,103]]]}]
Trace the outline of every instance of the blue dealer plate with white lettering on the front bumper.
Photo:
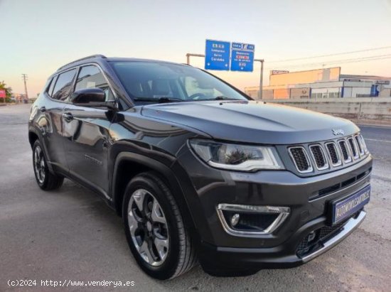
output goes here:
[{"label": "blue dealer plate with white lettering on the front bumper", "polygon": [[370,185],[367,185],[357,193],[350,195],[348,198],[333,202],[333,221],[332,224],[338,223],[341,220],[350,217],[355,212],[368,204],[370,199]]}]

